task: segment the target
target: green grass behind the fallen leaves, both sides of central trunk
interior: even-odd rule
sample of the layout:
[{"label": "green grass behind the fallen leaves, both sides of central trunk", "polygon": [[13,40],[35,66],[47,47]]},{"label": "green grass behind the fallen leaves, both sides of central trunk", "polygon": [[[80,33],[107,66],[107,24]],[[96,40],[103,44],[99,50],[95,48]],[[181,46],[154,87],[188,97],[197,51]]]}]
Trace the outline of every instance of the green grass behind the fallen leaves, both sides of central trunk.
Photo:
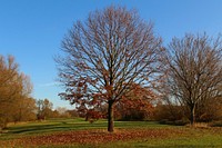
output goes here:
[{"label": "green grass behind the fallen leaves, both sides of central trunk", "polygon": [[[107,120],[98,120],[93,124],[84,121],[82,118],[77,119],[50,119],[46,121],[34,121],[28,124],[10,125],[8,132],[2,137],[13,137],[20,135],[41,135],[51,134],[54,131],[68,131],[68,130],[85,130],[85,129],[107,129]],[[160,128],[168,127],[165,125],[159,125],[154,121],[115,121],[118,128]]]}]

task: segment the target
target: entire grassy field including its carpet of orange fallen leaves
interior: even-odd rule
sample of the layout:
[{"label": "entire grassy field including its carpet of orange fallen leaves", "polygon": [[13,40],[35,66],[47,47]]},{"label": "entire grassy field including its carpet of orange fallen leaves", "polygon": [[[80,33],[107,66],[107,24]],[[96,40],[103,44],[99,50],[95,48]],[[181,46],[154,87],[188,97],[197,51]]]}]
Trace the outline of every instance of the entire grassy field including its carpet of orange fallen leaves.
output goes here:
[{"label": "entire grassy field including its carpet of orange fallen leaves", "polygon": [[190,128],[152,121],[115,121],[115,132],[107,132],[107,121],[51,119],[9,125],[0,135],[0,148],[39,147],[222,147],[222,128]]}]

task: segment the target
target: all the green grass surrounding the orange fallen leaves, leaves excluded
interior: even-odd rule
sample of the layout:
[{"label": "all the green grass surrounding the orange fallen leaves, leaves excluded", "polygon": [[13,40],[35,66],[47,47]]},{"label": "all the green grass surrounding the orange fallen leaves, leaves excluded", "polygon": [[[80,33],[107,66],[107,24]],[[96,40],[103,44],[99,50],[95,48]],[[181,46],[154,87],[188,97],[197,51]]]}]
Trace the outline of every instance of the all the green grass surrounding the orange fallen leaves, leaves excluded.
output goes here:
[{"label": "all the green grass surrounding the orange fallen leaves, leaves excluded", "polygon": [[[69,147],[105,147],[105,148],[133,148],[133,147],[153,147],[153,148],[199,148],[199,147],[222,147],[222,128],[189,128],[159,125],[153,121],[115,121],[115,129],[143,129],[143,130],[165,130],[172,132],[168,137],[141,138],[123,141],[114,141],[109,144],[65,144],[60,146],[39,146],[40,148],[69,148]],[[93,129],[107,129],[107,121],[99,120],[93,124],[84,121],[84,119],[51,119],[42,122],[28,122],[10,125],[8,132],[0,135],[1,141],[9,141],[21,137],[43,136],[56,132],[81,131]],[[174,132],[176,131],[176,132]]]}]

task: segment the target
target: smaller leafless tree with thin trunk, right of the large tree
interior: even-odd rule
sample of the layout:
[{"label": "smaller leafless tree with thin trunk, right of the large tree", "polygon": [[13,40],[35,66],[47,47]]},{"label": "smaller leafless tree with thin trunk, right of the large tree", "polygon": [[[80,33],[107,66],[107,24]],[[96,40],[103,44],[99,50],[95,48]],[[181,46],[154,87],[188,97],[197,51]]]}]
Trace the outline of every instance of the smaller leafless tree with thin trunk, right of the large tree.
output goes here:
[{"label": "smaller leafless tree with thin trunk, right of the large tree", "polygon": [[[190,112],[191,125],[203,103],[214,101],[222,83],[221,38],[186,34],[174,38],[168,48],[165,90],[168,100],[175,100]],[[208,101],[206,101],[208,100]],[[210,101],[209,101],[210,100]]]}]

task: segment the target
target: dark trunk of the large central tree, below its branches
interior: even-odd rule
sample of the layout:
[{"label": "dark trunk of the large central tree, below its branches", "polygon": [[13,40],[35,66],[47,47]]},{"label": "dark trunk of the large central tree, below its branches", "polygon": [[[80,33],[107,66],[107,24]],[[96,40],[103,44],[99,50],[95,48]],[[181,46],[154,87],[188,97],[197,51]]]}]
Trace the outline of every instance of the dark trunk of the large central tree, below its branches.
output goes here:
[{"label": "dark trunk of the large central tree, below its branches", "polygon": [[114,118],[113,118],[113,100],[108,101],[108,131],[113,132],[114,131]]}]

